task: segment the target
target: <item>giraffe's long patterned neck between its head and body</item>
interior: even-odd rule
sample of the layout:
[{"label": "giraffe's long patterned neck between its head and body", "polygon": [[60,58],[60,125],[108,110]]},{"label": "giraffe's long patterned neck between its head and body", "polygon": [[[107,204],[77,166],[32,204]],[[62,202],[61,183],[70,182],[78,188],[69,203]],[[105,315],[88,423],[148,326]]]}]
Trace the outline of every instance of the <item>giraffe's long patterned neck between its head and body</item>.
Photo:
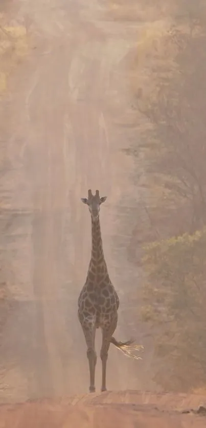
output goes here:
[{"label": "giraffe's long patterned neck between its head and body", "polygon": [[100,219],[98,216],[96,219],[91,217],[91,259],[89,267],[97,267],[99,265],[104,265],[106,268],[102,247]]}]

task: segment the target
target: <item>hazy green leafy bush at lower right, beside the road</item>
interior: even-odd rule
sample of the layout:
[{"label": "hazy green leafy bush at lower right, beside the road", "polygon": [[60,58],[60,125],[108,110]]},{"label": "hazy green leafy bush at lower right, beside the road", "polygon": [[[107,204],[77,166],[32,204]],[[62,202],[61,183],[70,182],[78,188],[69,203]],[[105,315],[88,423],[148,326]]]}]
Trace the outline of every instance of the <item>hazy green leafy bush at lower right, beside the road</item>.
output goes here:
[{"label": "hazy green leafy bush at lower right, beside the road", "polygon": [[[170,390],[206,382],[206,228],[145,247],[143,319],[156,334],[156,355],[164,363],[155,381]],[[170,375],[165,376],[169,368]]]}]

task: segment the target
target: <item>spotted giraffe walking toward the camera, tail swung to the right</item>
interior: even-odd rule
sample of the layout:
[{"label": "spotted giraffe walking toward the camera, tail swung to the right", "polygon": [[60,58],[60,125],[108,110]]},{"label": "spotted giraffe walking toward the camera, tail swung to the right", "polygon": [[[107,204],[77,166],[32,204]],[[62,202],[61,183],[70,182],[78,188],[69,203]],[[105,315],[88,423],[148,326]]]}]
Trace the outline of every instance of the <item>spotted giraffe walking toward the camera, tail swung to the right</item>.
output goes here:
[{"label": "spotted giraffe walking toward the camera, tail swung to the right", "polygon": [[100,229],[100,205],[106,196],[100,197],[99,190],[93,195],[88,190],[88,198],[81,198],[88,206],[91,215],[91,258],[87,271],[86,281],[78,299],[78,318],[85,336],[87,345],[87,358],[89,363],[90,386],[89,391],[95,392],[95,368],[97,354],[95,350],[96,329],[102,330],[102,347],[100,358],[102,360],[102,387],[106,391],[106,364],[110,343],[121,349],[126,355],[136,358],[130,349],[139,349],[131,346],[132,340],[118,342],[112,335],[118,323],[119,297],[113,287],[107,265],[104,259],[102,237]]}]

